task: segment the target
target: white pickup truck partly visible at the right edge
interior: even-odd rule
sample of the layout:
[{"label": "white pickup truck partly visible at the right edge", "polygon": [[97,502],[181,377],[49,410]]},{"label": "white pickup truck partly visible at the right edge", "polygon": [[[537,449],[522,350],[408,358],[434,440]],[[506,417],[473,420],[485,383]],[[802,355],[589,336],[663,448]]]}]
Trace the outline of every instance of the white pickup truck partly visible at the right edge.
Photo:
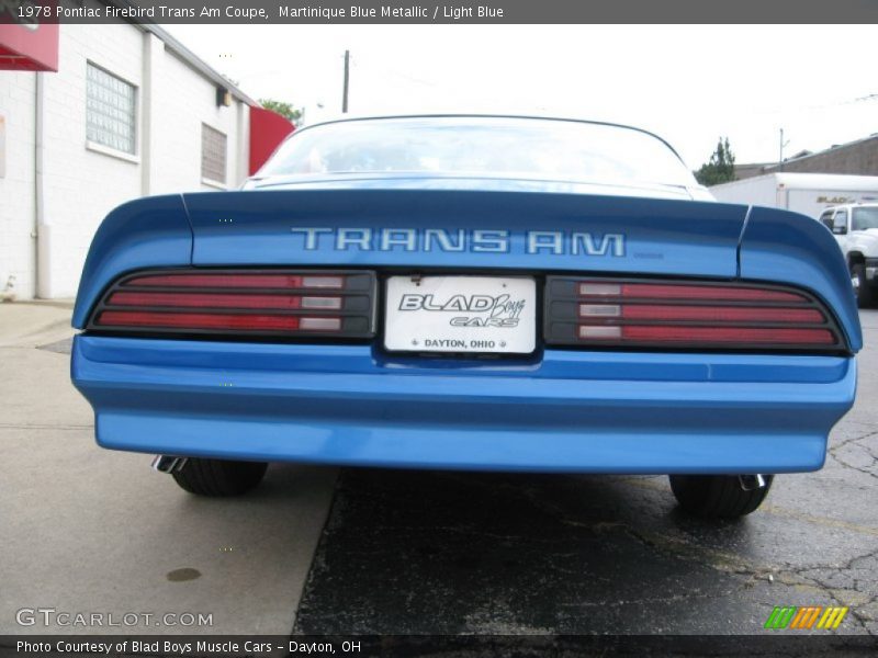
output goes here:
[{"label": "white pickup truck partly visible at the right edge", "polygon": [[832,206],[821,213],[820,222],[845,256],[857,303],[874,306],[878,300],[878,203]]}]

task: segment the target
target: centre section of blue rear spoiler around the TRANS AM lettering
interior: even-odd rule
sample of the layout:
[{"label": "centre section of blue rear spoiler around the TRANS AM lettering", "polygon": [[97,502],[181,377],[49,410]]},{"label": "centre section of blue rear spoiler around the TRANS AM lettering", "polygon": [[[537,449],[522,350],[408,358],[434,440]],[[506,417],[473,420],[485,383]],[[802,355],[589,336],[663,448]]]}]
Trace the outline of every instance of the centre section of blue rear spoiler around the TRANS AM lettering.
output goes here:
[{"label": "centre section of blue rear spoiler around the TRANS AM lettering", "polygon": [[[294,190],[187,196],[195,265],[368,265],[733,277],[746,207],[694,201],[460,190]],[[233,222],[221,222],[232,218]],[[495,229],[509,253],[304,250],[293,227]],[[623,232],[624,258],[528,254],[525,231]]]}]

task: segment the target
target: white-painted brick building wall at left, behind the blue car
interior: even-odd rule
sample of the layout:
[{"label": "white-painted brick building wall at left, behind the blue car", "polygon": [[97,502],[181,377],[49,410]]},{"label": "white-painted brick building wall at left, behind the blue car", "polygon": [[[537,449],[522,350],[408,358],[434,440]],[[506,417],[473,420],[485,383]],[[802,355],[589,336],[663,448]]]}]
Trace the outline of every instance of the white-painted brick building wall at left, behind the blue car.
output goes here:
[{"label": "white-painted brick building wall at left, behind the blue car", "polygon": [[[137,88],[135,161],[87,147],[88,61]],[[214,82],[136,26],[63,25],[59,70],[41,75],[44,225],[40,227],[36,290],[31,237],[35,73],[0,71],[0,115],[7,122],[8,151],[7,177],[0,179],[0,292],[14,275],[19,298],[71,297],[91,238],[112,208],[145,194],[210,189],[201,181],[202,122],[228,136],[228,186],[246,177],[246,105],[235,101],[229,107],[217,107]]]}]

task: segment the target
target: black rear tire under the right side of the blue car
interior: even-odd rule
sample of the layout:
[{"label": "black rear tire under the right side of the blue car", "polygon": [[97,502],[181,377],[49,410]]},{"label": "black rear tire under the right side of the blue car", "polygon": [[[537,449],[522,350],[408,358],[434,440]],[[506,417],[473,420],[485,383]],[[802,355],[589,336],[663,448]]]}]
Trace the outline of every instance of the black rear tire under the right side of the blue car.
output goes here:
[{"label": "black rear tire under the right side of the blue car", "polygon": [[765,487],[745,491],[736,475],[671,475],[671,490],[684,511],[705,519],[738,519],[762,504],[772,488],[773,475],[765,475]]}]

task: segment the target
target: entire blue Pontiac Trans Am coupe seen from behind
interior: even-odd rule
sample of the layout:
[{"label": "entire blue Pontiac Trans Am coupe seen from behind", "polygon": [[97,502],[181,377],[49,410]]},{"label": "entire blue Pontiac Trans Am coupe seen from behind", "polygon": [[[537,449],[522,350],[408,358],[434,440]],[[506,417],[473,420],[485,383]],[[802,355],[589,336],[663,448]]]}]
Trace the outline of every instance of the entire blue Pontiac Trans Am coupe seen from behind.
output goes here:
[{"label": "entire blue Pontiac Trans Am coupe seen from behind", "polygon": [[119,207],[74,325],[98,442],[195,494],[269,462],[671,474],[714,517],[823,465],[862,347],[820,223],[712,201],[642,131],[488,116],[317,125],[241,191]]}]

